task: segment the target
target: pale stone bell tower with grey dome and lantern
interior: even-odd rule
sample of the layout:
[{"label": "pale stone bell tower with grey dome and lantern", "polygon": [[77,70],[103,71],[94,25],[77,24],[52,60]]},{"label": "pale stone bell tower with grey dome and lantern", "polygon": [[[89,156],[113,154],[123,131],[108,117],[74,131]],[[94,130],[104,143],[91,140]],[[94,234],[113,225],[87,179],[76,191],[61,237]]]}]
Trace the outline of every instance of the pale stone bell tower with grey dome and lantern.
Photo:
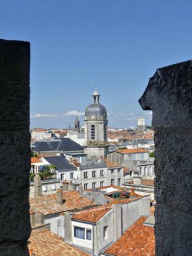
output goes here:
[{"label": "pale stone bell tower with grey dome and lantern", "polygon": [[100,104],[100,94],[96,89],[92,98],[93,103],[85,113],[85,152],[90,160],[104,157],[108,152],[106,108]]}]

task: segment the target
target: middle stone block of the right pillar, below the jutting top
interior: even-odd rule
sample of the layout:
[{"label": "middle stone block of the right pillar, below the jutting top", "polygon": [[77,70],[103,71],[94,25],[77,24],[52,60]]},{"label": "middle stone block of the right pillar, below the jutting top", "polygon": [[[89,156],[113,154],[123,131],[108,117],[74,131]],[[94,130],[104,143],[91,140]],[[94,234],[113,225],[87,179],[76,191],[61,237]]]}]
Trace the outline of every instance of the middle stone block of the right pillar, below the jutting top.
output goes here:
[{"label": "middle stone block of the right pillar, below the jutting top", "polygon": [[155,199],[192,214],[192,129],[155,129]]}]

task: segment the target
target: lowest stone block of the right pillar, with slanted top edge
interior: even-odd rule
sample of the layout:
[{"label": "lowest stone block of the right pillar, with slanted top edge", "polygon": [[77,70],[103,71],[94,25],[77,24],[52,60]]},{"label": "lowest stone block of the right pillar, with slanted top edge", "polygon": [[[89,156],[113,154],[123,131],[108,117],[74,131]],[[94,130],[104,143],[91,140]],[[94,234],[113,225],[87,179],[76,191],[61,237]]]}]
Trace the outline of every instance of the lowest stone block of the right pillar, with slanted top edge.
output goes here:
[{"label": "lowest stone block of the right pillar, with slanted top edge", "polygon": [[192,255],[192,216],[161,203],[155,216],[156,255]]}]

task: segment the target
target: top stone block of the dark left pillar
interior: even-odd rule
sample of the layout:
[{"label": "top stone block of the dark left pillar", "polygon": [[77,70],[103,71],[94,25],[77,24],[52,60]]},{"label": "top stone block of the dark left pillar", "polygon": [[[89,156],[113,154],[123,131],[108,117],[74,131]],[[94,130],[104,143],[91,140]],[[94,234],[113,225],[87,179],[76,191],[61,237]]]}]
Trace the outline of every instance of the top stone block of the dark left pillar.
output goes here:
[{"label": "top stone block of the dark left pillar", "polygon": [[30,43],[0,40],[0,130],[28,129]]}]

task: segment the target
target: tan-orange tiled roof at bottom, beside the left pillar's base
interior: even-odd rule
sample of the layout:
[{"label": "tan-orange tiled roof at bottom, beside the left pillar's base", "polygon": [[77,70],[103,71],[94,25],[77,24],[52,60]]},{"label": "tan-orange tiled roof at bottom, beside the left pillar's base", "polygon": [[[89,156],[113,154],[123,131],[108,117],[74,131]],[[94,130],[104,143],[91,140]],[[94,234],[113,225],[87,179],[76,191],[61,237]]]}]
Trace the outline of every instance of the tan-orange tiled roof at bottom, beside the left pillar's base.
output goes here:
[{"label": "tan-orange tiled roof at bottom, beside the left pillar's base", "polygon": [[46,228],[32,230],[28,239],[28,249],[32,249],[35,256],[88,256],[83,251],[68,245],[61,236]]}]

